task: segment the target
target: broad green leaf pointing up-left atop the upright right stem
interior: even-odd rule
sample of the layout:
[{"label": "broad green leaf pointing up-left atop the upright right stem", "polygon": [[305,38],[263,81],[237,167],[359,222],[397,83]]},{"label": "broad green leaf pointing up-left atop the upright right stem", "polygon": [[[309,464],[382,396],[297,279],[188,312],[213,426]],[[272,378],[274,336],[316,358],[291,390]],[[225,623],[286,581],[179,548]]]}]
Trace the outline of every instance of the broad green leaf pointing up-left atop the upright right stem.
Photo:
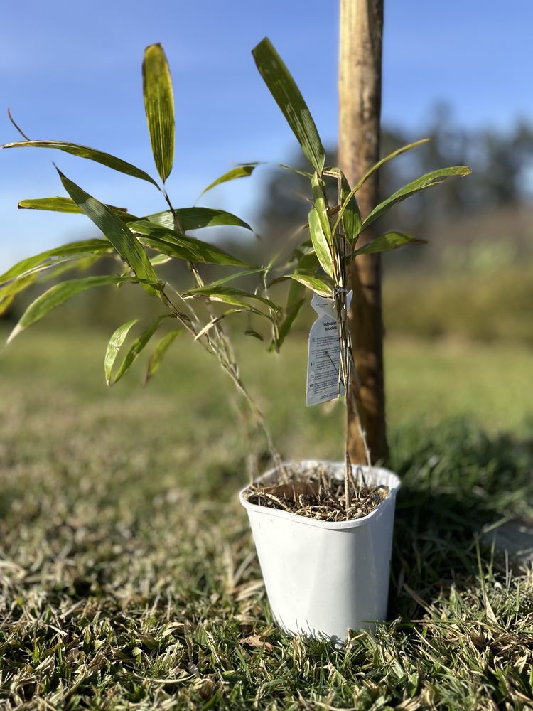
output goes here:
[{"label": "broad green leaf pointing up-left atop the upright right stem", "polygon": [[320,175],[325,162],[322,141],[296,82],[269,38],[265,37],[252,50],[252,54],[259,73],[298,139],[303,154]]}]

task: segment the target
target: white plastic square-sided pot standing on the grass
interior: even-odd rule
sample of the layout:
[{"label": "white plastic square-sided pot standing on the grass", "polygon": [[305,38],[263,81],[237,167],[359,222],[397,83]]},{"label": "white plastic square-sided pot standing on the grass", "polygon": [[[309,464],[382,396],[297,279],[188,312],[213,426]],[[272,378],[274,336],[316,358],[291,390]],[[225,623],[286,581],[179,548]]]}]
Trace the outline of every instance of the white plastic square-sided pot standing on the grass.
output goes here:
[{"label": "white plastic square-sided pot standing on the grass", "polygon": [[[317,464],[343,479],[338,462]],[[299,468],[299,467],[298,467]],[[368,481],[368,470],[363,467]],[[274,479],[275,469],[259,481]],[[289,634],[325,636],[334,643],[348,630],[373,629],[387,616],[394,504],[400,481],[396,474],[372,468],[374,481],[389,487],[372,513],[352,521],[319,521],[249,503],[246,508],[276,623]]]}]

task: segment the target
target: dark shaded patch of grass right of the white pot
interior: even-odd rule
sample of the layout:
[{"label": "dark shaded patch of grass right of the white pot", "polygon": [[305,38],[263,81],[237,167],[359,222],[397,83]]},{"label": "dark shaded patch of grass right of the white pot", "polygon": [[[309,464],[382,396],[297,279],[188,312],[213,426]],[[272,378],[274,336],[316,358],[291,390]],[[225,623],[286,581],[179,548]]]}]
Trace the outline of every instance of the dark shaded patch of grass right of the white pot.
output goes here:
[{"label": "dark shaded patch of grass right of the white pot", "polygon": [[533,440],[490,437],[461,419],[423,437],[411,428],[400,430],[392,451],[390,466],[402,488],[389,619],[412,618],[421,602],[431,604],[459,579],[479,574],[479,549],[483,559],[491,557],[484,528],[531,517]]}]

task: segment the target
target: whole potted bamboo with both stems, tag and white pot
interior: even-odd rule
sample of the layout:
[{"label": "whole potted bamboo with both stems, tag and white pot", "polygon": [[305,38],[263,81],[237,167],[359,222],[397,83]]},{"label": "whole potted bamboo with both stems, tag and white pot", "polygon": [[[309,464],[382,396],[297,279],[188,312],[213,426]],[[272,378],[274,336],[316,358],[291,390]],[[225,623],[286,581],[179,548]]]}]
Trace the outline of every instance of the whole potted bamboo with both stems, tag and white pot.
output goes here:
[{"label": "whole potted bamboo with both stems, tag and white pot", "polygon": [[[159,181],[136,166],[97,149],[65,141],[29,139],[13,119],[23,140],[1,148],[56,149],[96,161],[156,188],[165,209],[139,217],[126,208],[99,201],[57,169],[67,194],[26,199],[19,207],[85,213],[102,232],[102,237],[45,250],[11,267],[0,276],[0,312],[17,294],[38,285],[43,277],[55,279],[55,284],[24,311],[9,336],[11,341],[76,294],[95,287],[136,283],[154,299],[158,313],[150,324],[140,329],[129,347],[125,346],[126,338],[133,328],[139,328],[136,319],[120,324],[112,333],[104,355],[108,385],[122,378],[165,323],[171,324],[171,328],[166,329],[151,354],[146,380],[154,375],[163,355],[181,333],[189,333],[214,355],[264,429],[275,465],[241,492],[241,501],[248,510],[276,621],[291,633],[344,639],[349,629],[371,624],[386,614],[394,496],[399,480],[386,469],[372,467],[370,459],[363,466],[352,467],[348,455],[341,463],[284,464],[276,454],[262,413],[239,375],[224,329],[225,319],[234,314],[261,319],[268,325],[278,351],[303,304],[302,294],[309,289],[318,319],[310,338],[308,402],[324,402],[343,395],[353,369],[348,331],[348,266],[357,255],[383,252],[415,241],[410,235],[387,232],[359,246],[360,235],[392,205],[445,178],[464,176],[470,171],[466,166],[458,166],[429,173],[401,188],[369,215],[361,215],[357,205],[360,186],[384,162],[424,141],[405,146],[379,161],[352,188],[338,168],[325,167],[322,142],[311,114],[268,39],[254,49],[254,57],[311,166],[305,173],[312,196],[308,232],[289,262],[269,267],[247,264],[220,247],[188,234],[189,230],[210,225],[251,228],[225,210],[173,206],[166,189],[174,154],[173,90],[163,49],[160,45],[151,45],[146,48],[143,63],[144,105]],[[205,191],[225,181],[249,176],[254,166],[235,167],[210,183]],[[112,257],[116,273],[65,277],[77,266],[99,264],[102,257]],[[160,269],[171,260],[186,264],[193,282],[191,288],[176,289],[163,277]],[[206,282],[204,264],[227,268],[230,272]],[[257,277],[255,289],[238,285],[239,279],[250,277]],[[269,290],[286,281],[290,281],[291,286],[286,306],[281,309],[270,298]],[[254,328],[248,330],[257,335]],[[125,351],[124,356],[117,363],[122,351]],[[347,397],[350,397],[349,390]]]}]

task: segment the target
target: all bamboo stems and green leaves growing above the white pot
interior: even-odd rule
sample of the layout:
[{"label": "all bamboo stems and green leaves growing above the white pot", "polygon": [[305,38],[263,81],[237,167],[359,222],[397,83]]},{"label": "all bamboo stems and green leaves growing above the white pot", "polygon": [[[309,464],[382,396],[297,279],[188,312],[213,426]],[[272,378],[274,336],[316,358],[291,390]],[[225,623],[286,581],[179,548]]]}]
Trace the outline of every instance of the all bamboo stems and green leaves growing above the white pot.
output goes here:
[{"label": "all bamboo stems and green leaves growing above the white pot", "polygon": [[[137,319],[121,324],[114,331],[104,355],[104,375],[107,384],[114,385],[122,378],[141,351],[148,346],[156,331],[163,326],[163,322],[171,319],[170,322],[173,324],[171,330],[160,338],[151,354],[145,380],[149,380],[156,373],[173,341],[183,332],[190,333],[195,341],[215,355],[222,369],[244,396],[254,419],[264,431],[274,462],[279,466],[281,479],[287,481],[288,473],[281,464],[279,455],[276,454],[264,417],[239,375],[232,344],[222,321],[233,314],[247,314],[249,319],[266,320],[271,331],[272,344],[275,350],[279,351],[303,305],[305,289],[332,299],[338,324],[338,392],[340,393],[341,386],[350,383],[350,374],[354,368],[347,309],[350,262],[356,259],[357,255],[384,252],[410,242],[422,241],[403,232],[387,232],[361,245],[359,240],[362,233],[399,201],[451,176],[465,176],[470,169],[468,166],[453,166],[428,173],[400,188],[379,203],[369,215],[361,215],[357,204],[357,191],[363,183],[384,163],[404,151],[423,144],[427,139],[404,146],[382,159],[352,188],[338,167],[325,166],[325,152],[316,124],[289,70],[268,38],[254,48],[253,55],[259,72],[311,166],[310,171],[303,173],[308,178],[311,188],[312,206],[306,225],[308,235],[306,234],[301,243],[296,246],[289,262],[269,264],[268,267],[247,264],[220,247],[188,234],[190,230],[200,230],[211,225],[227,225],[247,230],[251,228],[237,215],[225,210],[198,206],[174,208],[166,188],[174,159],[173,88],[163,48],[155,44],[146,48],[144,54],[143,88],[151,149],[159,180],[117,156],[97,149],[66,141],[29,139],[10,114],[11,122],[23,140],[5,144],[1,146],[2,149],[56,149],[82,159],[95,161],[109,169],[149,183],[160,193],[165,209],[139,217],[126,208],[102,203],[55,166],[67,193],[66,196],[26,199],[18,203],[19,207],[53,210],[60,213],[85,213],[102,232],[102,237],[55,247],[28,257],[11,267],[0,276],[0,314],[24,289],[33,286],[43,278],[51,277],[58,280],[24,311],[9,336],[8,340],[11,341],[25,328],[80,292],[99,286],[120,286],[127,282],[139,284],[163,307],[163,313],[141,330],[129,348],[126,348],[124,343],[131,329],[136,326]],[[236,166],[212,181],[202,194],[220,183],[250,176],[256,165],[249,163]],[[282,167],[290,169],[289,166]],[[102,257],[109,256],[114,257],[114,263],[118,267],[115,274],[91,275],[74,279],[64,277],[72,268],[86,267],[87,264],[92,265],[99,262]],[[185,262],[195,282],[192,289],[180,291],[168,280],[163,279],[159,268],[171,260]],[[205,283],[200,272],[203,264],[233,269],[227,277]],[[256,289],[250,291],[235,286],[239,284],[239,279],[250,277],[252,274],[259,277]],[[291,288],[285,308],[280,309],[269,298],[267,282],[275,284],[287,279],[291,280]],[[221,305],[222,311],[214,310],[216,306],[220,309]],[[248,332],[251,335],[259,335],[254,328],[249,328]],[[117,358],[122,351],[126,352],[117,365]],[[351,396],[347,388],[347,397]],[[364,433],[361,434],[364,437]],[[345,463],[345,506],[348,510],[350,482],[353,483],[348,453],[345,455]]]}]

